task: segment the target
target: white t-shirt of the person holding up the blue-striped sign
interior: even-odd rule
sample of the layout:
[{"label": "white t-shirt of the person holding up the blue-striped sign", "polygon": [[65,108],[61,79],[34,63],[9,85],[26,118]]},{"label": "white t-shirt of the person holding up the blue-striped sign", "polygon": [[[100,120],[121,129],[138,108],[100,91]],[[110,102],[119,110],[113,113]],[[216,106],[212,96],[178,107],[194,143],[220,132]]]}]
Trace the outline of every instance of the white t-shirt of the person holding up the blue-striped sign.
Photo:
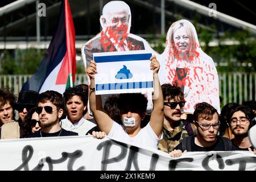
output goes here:
[{"label": "white t-shirt of the person holding up the blue-striped sign", "polygon": [[158,149],[159,138],[153,131],[149,122],[147,126],[143,127],[141,131],[135,135],[135,137],[130,137],[125,130],[125,126],[119,125],[117,122],[113,121],[108,137],[112,137],[119,142],[129,143],[138,147],[151,147]]}]

